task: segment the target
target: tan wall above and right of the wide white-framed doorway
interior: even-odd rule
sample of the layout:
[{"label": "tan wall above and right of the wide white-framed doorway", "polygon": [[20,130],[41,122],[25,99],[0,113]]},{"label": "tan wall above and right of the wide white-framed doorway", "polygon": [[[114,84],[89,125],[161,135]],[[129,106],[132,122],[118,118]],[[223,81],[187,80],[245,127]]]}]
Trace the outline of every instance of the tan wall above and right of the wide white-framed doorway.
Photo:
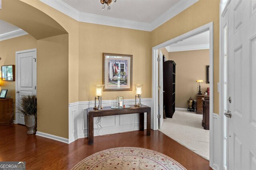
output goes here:
[{"label": "tan wall above and right of the wide white-framed doorway", "polygon": [[213,22],[214,29],[214,113],[219,113],[219,5],[220,0],[199,0],[151,32],[151,47]]}]

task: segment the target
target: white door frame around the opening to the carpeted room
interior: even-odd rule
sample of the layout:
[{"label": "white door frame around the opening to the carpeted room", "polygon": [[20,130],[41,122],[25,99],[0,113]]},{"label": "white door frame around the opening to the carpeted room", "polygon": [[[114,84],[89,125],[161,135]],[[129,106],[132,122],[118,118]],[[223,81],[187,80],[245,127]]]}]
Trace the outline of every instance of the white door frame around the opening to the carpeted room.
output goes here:
[{"label": "white door frame around the opening to the carpeted room", "polygon": [[210,166],[212,167],[213,164],[213,22],[207,23],[206,25],[203,25],[201,27],[198,27],[192,31],[189,31],[187,33],[184,33],[178,37],[175,37],[173,39],[170,39],[169,41],[166,41],[162,44],[156,45],[152,48],[152,98],[153,98],[153,128],[154,130],[158,129],[158,62],[157,57],[158,54],[156,54],[157,49],[166,47],[168,45],[171,45],[173,43],[176,43],[178,41],[187,39],[189,37],[192,37],[194,35],[198,35],[200,33],[203,33],[205,31],[210,32]]}]

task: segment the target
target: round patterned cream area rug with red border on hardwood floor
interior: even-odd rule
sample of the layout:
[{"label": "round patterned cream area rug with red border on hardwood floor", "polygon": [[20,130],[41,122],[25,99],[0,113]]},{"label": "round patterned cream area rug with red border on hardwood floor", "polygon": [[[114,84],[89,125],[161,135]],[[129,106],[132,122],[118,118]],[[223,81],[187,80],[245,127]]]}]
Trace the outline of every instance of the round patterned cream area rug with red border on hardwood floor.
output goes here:
[{"label": "round patterned cream area rug with red border on hardwood floor", "polygon": [[159,152],[134,147],[103,150],[88,156],[72,170],[186,170]]}]

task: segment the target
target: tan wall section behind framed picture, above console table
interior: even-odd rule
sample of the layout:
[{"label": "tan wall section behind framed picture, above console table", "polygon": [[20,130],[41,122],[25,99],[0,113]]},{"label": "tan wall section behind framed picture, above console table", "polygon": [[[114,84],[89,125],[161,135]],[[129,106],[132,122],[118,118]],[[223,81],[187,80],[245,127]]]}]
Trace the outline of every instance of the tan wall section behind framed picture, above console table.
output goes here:
[{"label": "tan wall section behind framed picture, above console table", "polygon": [[[151,94],[150,32],[79,23],[79,101],[94,100],[93,85],[102,84],[103,54],[133,55],[133,84],[144,84],[142,98]],[[133,91],[103,92],[103,100],[116,96],[133,99]]]}]

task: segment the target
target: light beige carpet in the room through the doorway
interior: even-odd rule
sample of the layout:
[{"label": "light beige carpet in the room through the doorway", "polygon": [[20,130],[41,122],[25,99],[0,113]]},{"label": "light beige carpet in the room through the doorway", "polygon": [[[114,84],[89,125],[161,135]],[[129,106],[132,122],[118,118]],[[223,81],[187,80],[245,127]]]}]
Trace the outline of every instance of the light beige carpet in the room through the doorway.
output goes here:
[{"label": "light beige carpet in the room through the doorway", "polygon": [[202,115],[197,115],[195,112],[175,111],[172,119],[164,119],[162,129],[159,131],[209,160],[210,135],[209,131],[202,127]]}]

